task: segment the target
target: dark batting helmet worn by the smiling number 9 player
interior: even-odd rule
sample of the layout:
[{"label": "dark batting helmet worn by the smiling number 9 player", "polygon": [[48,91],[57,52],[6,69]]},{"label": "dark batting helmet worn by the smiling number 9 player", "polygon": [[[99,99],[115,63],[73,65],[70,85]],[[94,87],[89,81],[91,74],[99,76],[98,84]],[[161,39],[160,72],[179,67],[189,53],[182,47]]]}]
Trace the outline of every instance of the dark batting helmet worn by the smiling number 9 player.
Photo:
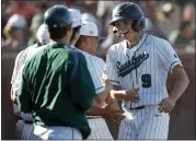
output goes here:
[{"label": "dark batting helmet worn by the smiling number 9 player", "polygon": [[112,19],[111,25],[114,25],[116,21],[132,20],[131,27],[134,31],[139,32],[145,28],[145,14],[140,7],[134,2],[124,2],[116,5]]}]

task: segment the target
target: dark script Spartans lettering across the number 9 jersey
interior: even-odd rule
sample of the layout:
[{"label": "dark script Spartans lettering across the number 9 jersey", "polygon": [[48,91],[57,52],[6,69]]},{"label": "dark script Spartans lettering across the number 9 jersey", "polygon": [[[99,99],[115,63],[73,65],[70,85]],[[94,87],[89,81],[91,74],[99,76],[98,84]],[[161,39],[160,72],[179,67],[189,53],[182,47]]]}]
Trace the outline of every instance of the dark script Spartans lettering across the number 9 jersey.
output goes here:
[{"label": "dark script Spartans lettering across the number 9 jersey", "polygon": [[141,63],[149,58],[148,52],[142,52],[138,57],[132,56],[131,60],[128,60],[124,64],[122,64],[119,61],[116,63],[116,68],[118,69],[118,77],[126,77],[129,74],[132,70],[139,68]]}]

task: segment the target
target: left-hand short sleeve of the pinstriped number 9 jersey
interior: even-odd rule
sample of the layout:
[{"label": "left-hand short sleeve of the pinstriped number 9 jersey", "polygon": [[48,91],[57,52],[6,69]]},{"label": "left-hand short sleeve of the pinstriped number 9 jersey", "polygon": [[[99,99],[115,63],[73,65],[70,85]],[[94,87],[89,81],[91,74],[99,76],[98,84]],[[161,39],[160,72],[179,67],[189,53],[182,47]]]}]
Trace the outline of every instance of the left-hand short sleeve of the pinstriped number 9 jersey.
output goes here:
[{"label": "left-hand short sleeve of the pinstriped number 9 jersey", "polygon": [[113,52],[113,49],[109,48],[106,55],[106,63],[102,78],[109,79],[113,85],[120,86],[114,58],[115,54]]}]

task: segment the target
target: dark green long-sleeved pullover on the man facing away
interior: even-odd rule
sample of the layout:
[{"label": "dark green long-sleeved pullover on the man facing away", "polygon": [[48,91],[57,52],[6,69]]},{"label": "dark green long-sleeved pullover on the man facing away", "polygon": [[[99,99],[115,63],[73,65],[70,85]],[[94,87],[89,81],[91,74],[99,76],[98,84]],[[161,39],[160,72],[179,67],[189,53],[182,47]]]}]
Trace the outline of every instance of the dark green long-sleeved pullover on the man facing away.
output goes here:
[{"label": "dark green long-sleeved pullover on the man facing away", "polygon": [[35,125],[78,128],[87,139],[91,129],[84,111],[92,106],[95,89],[83,55],[65,46],[48,44],[26,61],[19,109],[32,113]]}]

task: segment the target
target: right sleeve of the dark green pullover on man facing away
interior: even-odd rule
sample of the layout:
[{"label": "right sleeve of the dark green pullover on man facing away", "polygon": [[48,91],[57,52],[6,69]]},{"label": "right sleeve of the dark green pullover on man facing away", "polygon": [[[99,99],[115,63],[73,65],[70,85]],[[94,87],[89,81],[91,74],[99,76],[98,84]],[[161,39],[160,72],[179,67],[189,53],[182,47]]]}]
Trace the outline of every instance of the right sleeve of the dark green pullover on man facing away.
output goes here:
[{"label": "right sleeve of the dark green pullover on man facing away", "polygon": [[[69,63],[70,70],[73,70],[76,66],[74,61],[76,59],[72,57]],[[88,110],[91,108],[93,97],[96,93],[91,74],[88,70],[85,58],[80,52],[78,52],[78,61],[76,74],[70,80],[71,98],[80,109]]]}]

